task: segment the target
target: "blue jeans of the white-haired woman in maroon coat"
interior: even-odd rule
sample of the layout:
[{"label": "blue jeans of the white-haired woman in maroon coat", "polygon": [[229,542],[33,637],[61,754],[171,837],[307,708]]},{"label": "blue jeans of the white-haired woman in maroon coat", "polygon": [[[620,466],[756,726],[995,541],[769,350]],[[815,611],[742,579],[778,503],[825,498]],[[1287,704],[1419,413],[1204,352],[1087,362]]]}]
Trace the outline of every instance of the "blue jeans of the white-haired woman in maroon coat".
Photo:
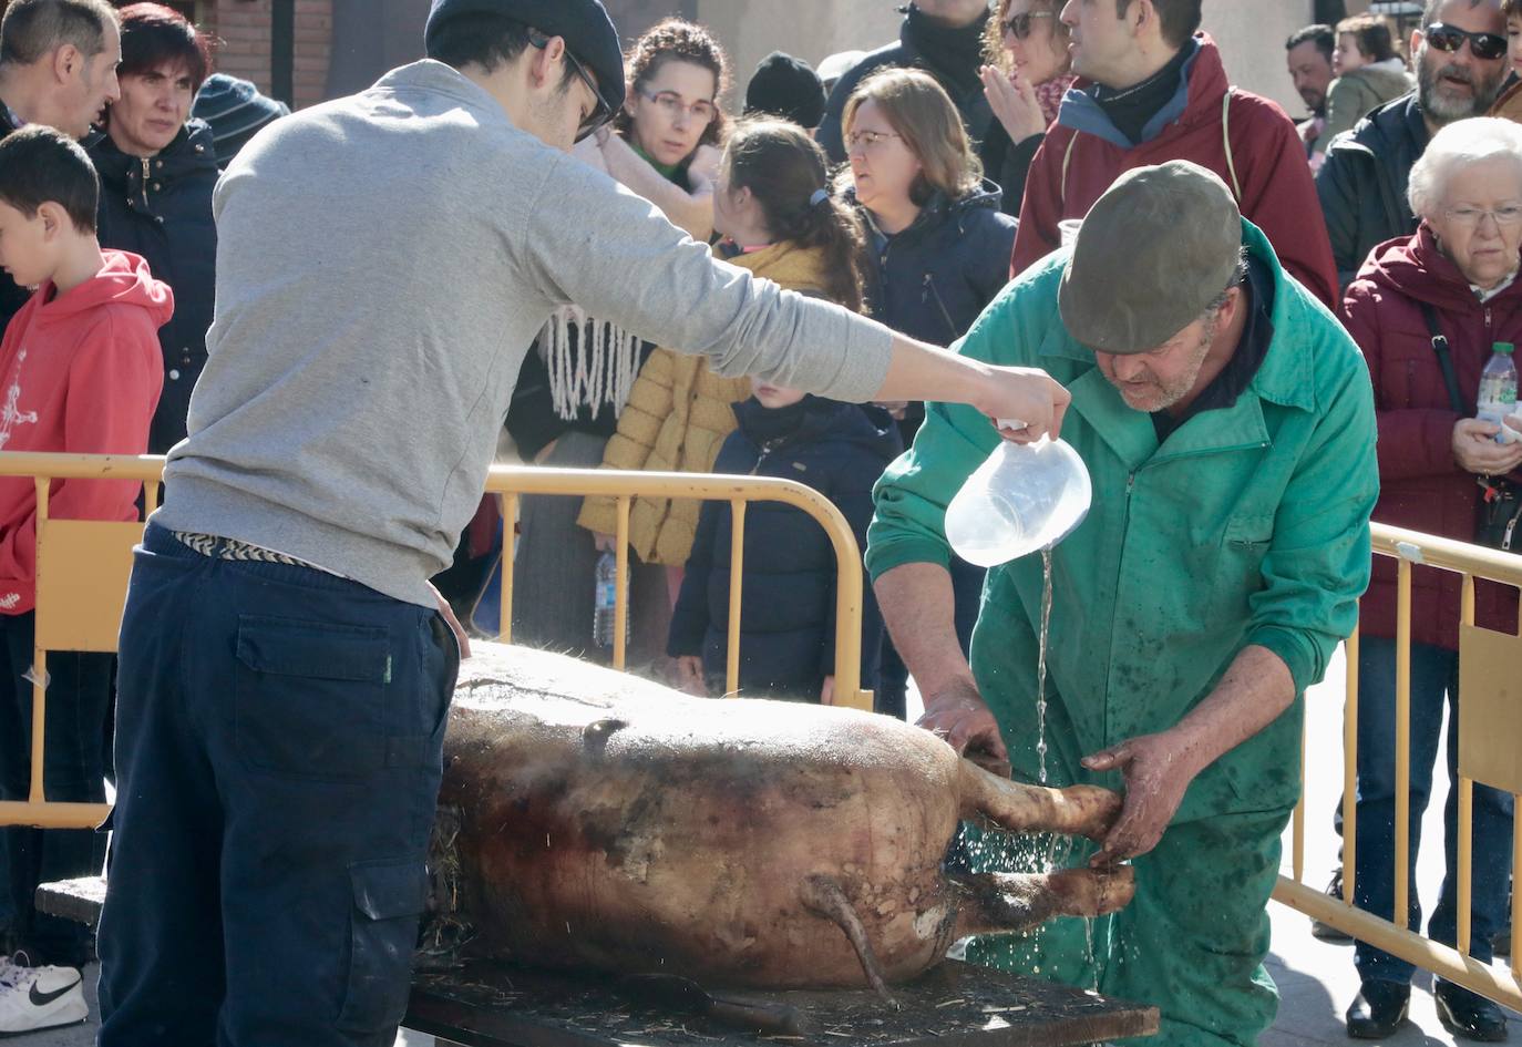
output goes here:
[{"label": "blue jeans of the white-haired woman in maroon coat", "polygon": [[[1411,927],[1422,925],[1415,867],[1422,842],[1422,813],[1432,794],[1444,697],[1449,705],[1447,773],[1455,788],[1443,808],[1444,877],[1428,936],[1444,945],[1458,939],[1458,653],[1411,645]],[[1361,909],[1391,919],[1396,883],[1396,642],[1365,638],[1358,657],[1358,883]],[[1489,963],[1490,939],[1505,921],[1507,881],[1511,870],[1510,793],[1475,785],[1473,884],[1470,895],[1470,954]],[[1399,922],[1399,921],[1396,921]],[[1411,963],[1365,942],[1355,948],[1355,965],[1365,982],[1411,980]]]}]

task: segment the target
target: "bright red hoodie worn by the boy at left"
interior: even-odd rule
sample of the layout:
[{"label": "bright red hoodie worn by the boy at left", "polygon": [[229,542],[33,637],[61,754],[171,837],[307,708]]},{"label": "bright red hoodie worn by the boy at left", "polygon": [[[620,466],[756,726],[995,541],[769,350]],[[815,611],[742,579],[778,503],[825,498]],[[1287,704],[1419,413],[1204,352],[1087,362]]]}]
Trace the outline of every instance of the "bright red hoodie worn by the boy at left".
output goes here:
[{"label": "bright red hoodie worn by the boy at left", "polygon": [[[164,385],[158,329],[174,315],[167,283],[126,251],[53,297],[46,283],[0,341],[0,450],[140,455]],[[52,298],[49,301],[49,298]],[[135,481],[55,479],[47,514],[135,520]],[[37,603],[37,487],[0,476],[0,613]]]}]

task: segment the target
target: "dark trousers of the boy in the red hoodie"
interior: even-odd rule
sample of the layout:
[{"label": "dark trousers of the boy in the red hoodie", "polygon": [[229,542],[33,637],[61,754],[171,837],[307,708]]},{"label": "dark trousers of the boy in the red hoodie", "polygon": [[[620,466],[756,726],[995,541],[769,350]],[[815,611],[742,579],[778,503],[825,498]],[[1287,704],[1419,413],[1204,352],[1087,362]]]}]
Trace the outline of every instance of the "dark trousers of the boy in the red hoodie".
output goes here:
[{"label": "dark trousers of the boy in the red hoodie", "polygon": [[[32,639],[35,615],[0,615],[0,799],[24,800],[32,775]],[[111,654],[50,651],[43,791],[50,800],[105,802],[105,718]],[[40,883],[99,875],[105,835],[93,829],[0,829],[0,930],[32,963],[84,966],[90,930],[38,913]]]}]

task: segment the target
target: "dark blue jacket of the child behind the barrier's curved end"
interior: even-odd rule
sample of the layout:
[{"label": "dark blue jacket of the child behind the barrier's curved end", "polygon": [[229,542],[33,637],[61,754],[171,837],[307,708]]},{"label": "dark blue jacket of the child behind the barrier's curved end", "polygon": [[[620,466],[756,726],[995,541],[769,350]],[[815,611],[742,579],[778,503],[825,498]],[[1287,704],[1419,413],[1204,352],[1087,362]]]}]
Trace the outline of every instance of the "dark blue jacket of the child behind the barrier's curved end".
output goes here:
[{"label": "dark blue jacket of the child behind the barrier's curved end", "polygon": [[[903,449],[880,408],[805,397],[769,411],[755,399],[735,405],[714,472],[785,476],[825,495],[866,548],[872,484]],[[706,502],[699,519],[682,594],[671,616],[668,651],[702,654],[703,670],[723,680],[729,641],[731,510]],[[877,680],[883,619],[864,589],[861,686]],[[740,612],[740,688],[747,697],[817,700],[836,657],[836,554],[823,528],[801,510],[752,502],[746,511],[744,583]]]}]

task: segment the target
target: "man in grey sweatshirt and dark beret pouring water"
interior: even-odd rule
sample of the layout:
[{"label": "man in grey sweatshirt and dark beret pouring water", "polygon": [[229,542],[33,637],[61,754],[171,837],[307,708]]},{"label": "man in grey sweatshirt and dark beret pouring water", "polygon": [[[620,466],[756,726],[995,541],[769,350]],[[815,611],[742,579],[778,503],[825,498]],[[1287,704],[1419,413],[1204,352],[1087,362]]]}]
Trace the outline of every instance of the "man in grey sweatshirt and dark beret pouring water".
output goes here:
[{"label": "man in grey sweatshirt and dark beret pouring water", "polygon": [[715,262],[565,155],[622,102],[598,0],[435,0],[426,43],[216,190],[210,359],[122,624],[105,1047],[394,1038],[460,657],[428,578],[556,306],[1012,438],[1067,403]]}]

